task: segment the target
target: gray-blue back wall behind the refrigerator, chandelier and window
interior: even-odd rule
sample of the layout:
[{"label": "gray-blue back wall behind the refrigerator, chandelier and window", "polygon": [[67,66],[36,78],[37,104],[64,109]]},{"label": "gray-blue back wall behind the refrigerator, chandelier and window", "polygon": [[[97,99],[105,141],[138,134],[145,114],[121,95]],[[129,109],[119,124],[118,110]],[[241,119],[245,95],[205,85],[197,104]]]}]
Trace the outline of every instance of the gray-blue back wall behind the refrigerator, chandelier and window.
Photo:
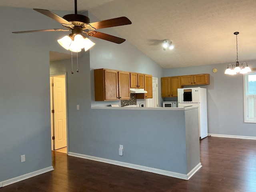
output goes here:
[{"label": "gray-blue back wall behind the refrigerator, chandelier and window", "polygon": [[[256,61],[246,62],[251,68],[256,68]],[[224,74],[227,65],[212,64],[165,69],[164,76],[209,73],[210,85],[201,86],[207,88],[208,133],[255,137],[256,125],[244,123],[243,75]],[[213,73],[213,68],[217,68],[218,72]]]}]

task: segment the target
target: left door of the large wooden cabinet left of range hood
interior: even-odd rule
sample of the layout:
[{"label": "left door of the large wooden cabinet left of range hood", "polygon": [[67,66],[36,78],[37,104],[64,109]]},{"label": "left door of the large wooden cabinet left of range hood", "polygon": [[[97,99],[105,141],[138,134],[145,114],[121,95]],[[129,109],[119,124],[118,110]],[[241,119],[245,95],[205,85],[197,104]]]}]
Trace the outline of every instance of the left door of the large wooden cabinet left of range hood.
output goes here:
[{"label": "left door of the large wooden cabinet left of range hood", "polygon": [[118,72],[104,70],[105,100],[118,100]]}]

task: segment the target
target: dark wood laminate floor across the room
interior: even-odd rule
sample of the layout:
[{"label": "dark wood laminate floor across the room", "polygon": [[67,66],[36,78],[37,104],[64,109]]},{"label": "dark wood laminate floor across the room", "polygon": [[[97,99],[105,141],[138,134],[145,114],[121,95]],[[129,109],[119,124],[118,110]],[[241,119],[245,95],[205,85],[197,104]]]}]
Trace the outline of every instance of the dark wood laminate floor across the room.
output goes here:
[{"label": "dark wood laminate floor across the room", "polygon": [[52,152],[54,171],[0,192],[256,192],[256,140],[208,137],[200,150],[188,181]]}]

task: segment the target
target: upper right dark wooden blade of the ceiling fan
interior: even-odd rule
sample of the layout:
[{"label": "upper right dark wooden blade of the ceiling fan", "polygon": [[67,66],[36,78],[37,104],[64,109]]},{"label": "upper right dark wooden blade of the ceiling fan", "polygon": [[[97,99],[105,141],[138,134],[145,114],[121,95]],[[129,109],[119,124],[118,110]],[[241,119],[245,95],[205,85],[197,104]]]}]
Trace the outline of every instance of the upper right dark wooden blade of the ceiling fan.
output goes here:
[{"label": "upper right dark wooden blade of the ceiling fan", "polygon": [[122,26],[122,25],[130,25],[132,22],[127,17],[118,17],[114,19],[108,19],[103,21],[98,21],[94,23],[89,23],[95,29],[102,29],[108,27]]}]

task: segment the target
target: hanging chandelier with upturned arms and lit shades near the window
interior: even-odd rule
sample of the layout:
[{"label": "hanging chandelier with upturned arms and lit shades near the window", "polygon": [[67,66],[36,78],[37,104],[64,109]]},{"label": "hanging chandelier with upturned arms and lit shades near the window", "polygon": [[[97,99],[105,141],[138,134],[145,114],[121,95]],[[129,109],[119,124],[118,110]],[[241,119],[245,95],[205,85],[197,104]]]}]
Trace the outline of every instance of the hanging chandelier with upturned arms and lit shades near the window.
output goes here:
[{"label": "hanging chandelier with upturned arms and lit shades near the window", "polygon": [[[236,64],[228,64],[228,68],[225,70],[225,74],[229,74],[229,75],[235,75],[236,73],[245,74],[252,71],[246,62],[243,62],[241,65],[239,64],[238,48],[237,48],[238,34],[239,32],[234,32],[234,35],[236,35]],[[246,64],[246,67],[244,67],[244,64]],[[229,68],[229,66],[231,66],[231,68]]]}]

